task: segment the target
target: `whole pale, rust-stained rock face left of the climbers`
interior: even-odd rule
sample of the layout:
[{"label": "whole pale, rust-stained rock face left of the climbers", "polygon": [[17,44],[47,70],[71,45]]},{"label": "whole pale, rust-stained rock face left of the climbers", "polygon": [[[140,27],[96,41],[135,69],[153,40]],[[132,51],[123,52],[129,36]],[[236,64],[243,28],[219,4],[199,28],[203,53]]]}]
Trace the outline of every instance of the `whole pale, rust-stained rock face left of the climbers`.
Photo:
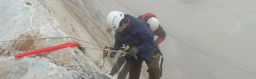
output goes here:
[{"label": "whole pale, rust-stained rock face left of the climbers", "polygon": [[[113,35],[105,31],[104,24],[91,18],[105,22],[104,9],[94,0],[0,0],[0,11],[0,41],[73,37],[100,46],[113,44]],[[65,42],[100,48],[79,40],[51,38],[0,42],[0,60]],[[1,61],[0,79],[113,79],[108,75],[109,62],[105,61],[102,66],[102,51],[63,48]]]}]

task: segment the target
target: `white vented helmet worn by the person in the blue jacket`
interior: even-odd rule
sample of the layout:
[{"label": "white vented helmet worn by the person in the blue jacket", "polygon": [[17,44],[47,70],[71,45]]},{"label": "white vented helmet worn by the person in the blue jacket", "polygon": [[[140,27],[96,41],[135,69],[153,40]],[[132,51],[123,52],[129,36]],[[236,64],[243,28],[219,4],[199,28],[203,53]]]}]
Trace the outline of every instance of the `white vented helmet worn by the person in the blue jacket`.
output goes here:
[{"label": "white vented helmet worn by the person in the blue jacket", "polygon": [[120,21],[124,18],[124,14],[119,11],[111,11],[107,17],[107,24],[111,30],[117,30]]}]

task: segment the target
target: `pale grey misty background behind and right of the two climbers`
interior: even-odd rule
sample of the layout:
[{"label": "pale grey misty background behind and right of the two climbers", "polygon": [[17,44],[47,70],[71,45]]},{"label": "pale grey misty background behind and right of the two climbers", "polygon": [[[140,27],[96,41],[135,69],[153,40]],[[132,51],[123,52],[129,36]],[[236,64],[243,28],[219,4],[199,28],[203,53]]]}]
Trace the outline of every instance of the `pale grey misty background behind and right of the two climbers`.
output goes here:
[{"label": "pale grey misty background behind and right of the two climbers", "polygon": [[167,32],[162,79],[256,79],[256,0],[100,2],[107,13],[159,18]]}]

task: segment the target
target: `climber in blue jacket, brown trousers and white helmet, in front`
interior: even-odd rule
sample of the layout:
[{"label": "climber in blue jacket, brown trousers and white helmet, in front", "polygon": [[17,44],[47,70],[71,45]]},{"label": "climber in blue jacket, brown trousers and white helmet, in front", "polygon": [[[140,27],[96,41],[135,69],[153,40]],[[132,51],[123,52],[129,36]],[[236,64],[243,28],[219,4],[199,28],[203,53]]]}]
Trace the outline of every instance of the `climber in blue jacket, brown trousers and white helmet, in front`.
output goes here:
[{"label": "climber in blue jacket, brown trousers and white helmet, in front", "polygon": [[111,30],[121,33],[119,39],[115,40],[115,45],[128,44],[131,47],[129,51],[129,79],[139,79],[143,61],[148,65],[149,78],[159,79],[160,70],[156,64],[158,58],[152,57],[155,54],[157,44],[149,24],[119,11],[111,11],[106,21]]}]

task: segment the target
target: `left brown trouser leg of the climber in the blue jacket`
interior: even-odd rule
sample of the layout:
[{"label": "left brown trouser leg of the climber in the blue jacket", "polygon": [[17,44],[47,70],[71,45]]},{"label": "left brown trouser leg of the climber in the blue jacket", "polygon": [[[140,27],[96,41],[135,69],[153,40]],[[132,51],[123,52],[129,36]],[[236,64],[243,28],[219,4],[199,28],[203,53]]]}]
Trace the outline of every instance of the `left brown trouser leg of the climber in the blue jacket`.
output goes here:
[{"label": "left brown trouser leg of the climber in the blue jacket", "polygon": [[129,61],[129,79],[139,79],[142,62],[143,59],[141,59],[139,56],[137,60],[131,56]]}]

